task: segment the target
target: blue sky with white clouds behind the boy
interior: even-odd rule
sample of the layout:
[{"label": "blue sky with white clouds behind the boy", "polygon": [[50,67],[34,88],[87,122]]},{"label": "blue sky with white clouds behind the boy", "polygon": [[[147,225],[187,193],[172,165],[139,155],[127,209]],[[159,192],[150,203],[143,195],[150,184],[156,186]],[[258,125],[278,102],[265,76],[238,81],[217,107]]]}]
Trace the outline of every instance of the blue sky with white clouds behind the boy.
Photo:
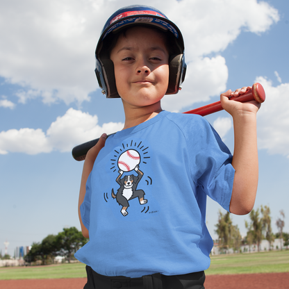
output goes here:
[{"label": "blue sky with white clouds behind the boy", "polygon": [[[106,99],[94,50],[108,17],[142,1],[0,0],[0,251],[41,242],[80,224],[83,162],[72,148],[122,129],[119,99]],[[146,0],[183,33],[188,71],[179,94],[163,98],[178,113],[220,100],[226,90],[261,83],[259,183],[254,208],[270,206],[272,229],[283,210],[289,231],[289,2]],[[231,116],[206,116],[233,153]],[[213,238],[219,210],[208,199]],[[242,236],[249,215],[231,215]]]}]

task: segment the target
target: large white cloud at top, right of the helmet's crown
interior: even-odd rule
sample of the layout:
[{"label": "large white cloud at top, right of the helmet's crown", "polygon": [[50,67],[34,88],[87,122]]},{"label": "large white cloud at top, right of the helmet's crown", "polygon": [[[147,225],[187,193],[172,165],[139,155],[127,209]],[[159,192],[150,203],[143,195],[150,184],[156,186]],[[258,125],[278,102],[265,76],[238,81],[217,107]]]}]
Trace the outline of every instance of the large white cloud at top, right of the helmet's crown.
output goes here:
[{"label": "large white cloud at top, right of the helmet's crown", "polygon": [[276,9],[256,0],[168,2],[167,16],[181,29],[189,59],[226,49],[242,30],[261,33],[279,21]]}]

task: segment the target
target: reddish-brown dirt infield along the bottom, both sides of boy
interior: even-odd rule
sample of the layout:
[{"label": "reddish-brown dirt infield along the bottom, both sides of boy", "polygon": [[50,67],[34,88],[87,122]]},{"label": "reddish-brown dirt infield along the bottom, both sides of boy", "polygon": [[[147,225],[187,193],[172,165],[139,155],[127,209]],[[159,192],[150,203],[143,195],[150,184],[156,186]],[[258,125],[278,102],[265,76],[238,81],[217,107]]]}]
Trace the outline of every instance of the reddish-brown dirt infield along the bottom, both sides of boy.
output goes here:
[{"label": "reddish-brown dirt infield along the bottom, both sides of boy", "polygon": [[[289,272],[270,274],[210,275],[206,289],[288,289]],[[2,289],[82,289],[86,279],[1,280]]]}]

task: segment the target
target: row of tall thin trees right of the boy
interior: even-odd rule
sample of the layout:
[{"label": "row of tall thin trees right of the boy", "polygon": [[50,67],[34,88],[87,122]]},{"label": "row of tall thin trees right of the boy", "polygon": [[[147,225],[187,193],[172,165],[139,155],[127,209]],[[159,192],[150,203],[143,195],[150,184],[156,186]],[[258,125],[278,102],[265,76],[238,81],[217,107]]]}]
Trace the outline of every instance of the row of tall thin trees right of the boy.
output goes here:
[{"label": "row of tall thin trees right of the boy", "polygon": [[[238,225],[233,225],[231,220],[231,214],[229,212],[222,213],[219,211],[218,221],[215,224],[215,233],[219,238],[219,248],[221,251],[226,251],[230,248],[233,251],[240,251],[241,245],[257,245],[258,251],[260,251],[260,245],[262,240],[267,240],[272,247],[272,242],[275,238],[283,238],[284,245],[288,246],[289,234],[283,232],[285,225],[285,213],[283,210],[280,211],[280,217],[276,220],[276,226],[278,233],[272,232],[271,216],[269,206],[261,206],[256,210],[251,210],[249,213],[249,222],[245,221],[245,227],[247,229],[247,236],[242,238]],[[280,249],[282,249],[282,242],[280,243]]]}]

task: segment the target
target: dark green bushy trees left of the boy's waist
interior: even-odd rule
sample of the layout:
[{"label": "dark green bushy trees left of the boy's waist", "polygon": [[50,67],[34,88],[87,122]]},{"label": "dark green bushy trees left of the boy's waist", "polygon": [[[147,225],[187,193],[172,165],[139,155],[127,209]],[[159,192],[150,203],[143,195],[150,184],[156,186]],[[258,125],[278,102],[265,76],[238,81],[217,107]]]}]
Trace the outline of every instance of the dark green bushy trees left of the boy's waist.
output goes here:
[{"label": "dark green bushy trees left of the boy's waist", "polygon": [[33,242],[28,254],[24,256],[27,263],[41,261],[42,265],[53,263],[56,256],[63,256],[70,263],[74,253],[88,242],[75,226],[65,228],[57,235],[48,235],[42,242]]}]

